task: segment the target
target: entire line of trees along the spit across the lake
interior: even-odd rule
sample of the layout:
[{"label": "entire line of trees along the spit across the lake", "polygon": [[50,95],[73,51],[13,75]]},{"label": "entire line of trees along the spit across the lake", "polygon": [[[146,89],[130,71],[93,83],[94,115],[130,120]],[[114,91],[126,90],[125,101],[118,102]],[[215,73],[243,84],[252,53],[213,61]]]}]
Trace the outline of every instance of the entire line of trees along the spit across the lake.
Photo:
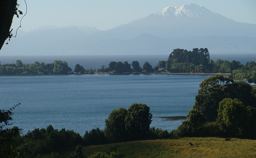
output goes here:
[{"label": "entire line of trees along the spit across the lake", "polygon": [[108,67],[102,65],[100,69],[85,69],[76,64],[72,70],[67,62],[54,60],[51,64],[35,62],[23,64],[17,60],[16,64],[0,63],[0,75],[48,75],[48,74],[129,74],[129,73],[167,73],[167,74],[224,74],[238,80],[246,79],[249,83],[256,83],[256,63],[247,62],[245,65],[239,61],[218,59],[216,62],[210,59],[207,48],[194,48],[193,51],[174,49],[167,60],[159,61],[157,66],[152,67],[148,62],[140,66],[138,61],[131,64],[127,61],[109,63]]}]

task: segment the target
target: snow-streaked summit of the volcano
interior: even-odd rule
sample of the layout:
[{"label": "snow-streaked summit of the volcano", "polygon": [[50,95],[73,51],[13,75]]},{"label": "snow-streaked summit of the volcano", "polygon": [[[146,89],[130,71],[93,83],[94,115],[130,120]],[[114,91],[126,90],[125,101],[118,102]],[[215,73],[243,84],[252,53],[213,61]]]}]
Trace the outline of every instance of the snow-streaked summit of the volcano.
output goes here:
[{"label": "snow-streaked summit of the volcano", "polygon": [[163,8],[158,15],[163,18],[176,17],[176,18],[207,18],[207,17],[223,17],[220,14],[213,13],[207,8],[197,4],[184,4],[183,6],[168,6]]}]

